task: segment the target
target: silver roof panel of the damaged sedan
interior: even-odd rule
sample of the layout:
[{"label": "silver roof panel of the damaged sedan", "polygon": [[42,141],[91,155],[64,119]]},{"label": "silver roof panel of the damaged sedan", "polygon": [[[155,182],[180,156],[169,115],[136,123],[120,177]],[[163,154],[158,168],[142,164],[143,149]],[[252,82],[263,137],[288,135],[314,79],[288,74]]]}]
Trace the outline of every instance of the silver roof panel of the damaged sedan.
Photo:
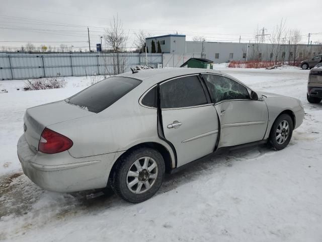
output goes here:
[{"label": "silver roof panel of the damaged sedan", "polygon": [[156,84],[161,81],[175,78],[178,76],[190,75],[190,74],[198,74],[198,73],[214,73],[220,74],[222,73],[217,70],[211,69],[201,69],[201,68],[163,68],[163,69],[147,69],[140,70],[137,73],[126,72],[119,74],[120,77],[130,77],[142,80],[143,82],[149,82],[149,84]]}]

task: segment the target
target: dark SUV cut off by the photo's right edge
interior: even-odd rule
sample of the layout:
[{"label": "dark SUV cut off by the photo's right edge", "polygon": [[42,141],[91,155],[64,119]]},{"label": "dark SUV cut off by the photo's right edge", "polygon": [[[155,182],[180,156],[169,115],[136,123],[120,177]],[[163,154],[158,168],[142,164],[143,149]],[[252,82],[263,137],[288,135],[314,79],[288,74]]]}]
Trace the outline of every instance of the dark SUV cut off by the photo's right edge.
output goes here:
[{"label": "dark SUV cut off by the photo's right edge", "polygon": [[306,98],[310,103],[319,103],[322,100],[322,63],[310,70]]}]

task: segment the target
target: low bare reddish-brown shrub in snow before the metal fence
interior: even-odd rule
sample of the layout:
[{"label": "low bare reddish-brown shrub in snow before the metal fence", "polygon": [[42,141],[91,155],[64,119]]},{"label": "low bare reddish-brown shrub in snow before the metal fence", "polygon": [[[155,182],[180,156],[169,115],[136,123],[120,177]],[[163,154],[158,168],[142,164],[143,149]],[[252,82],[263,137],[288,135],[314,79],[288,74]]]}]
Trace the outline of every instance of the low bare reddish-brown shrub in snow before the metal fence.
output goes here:
[{"label": "low bare reddish-brown shrub in snow before the metal fence", "polygon": [[27,80],[25,82],[24,90],[43,90],[43,89],[55,89],[63,88],[66,86],[66,81],[61,77],[47,77]]}]

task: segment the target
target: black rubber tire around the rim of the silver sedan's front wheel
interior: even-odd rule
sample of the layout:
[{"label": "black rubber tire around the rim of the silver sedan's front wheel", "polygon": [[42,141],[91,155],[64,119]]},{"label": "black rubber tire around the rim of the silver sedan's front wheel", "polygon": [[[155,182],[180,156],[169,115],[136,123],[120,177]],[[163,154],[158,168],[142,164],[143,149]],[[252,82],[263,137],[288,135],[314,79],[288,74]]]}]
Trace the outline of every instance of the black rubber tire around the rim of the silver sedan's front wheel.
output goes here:
[{"label": "black rubber tire around the rim of the silver sedan's front wheel", "polygon": [[[279,134],[278,128],[279,128],[280,124],[282,122],[284,122],[284,120],[287,122],[288,127],[289,127],[288,136],[282,144],[279,144],[279,142],[277,141],[277,135]],[[284,134],[285,134],[285,132],[284,132]],[[276,118],[276,120],[272,126],[270,137],[269,137],[269,144],[275,150],[282,150],[290,142],[290,140],[292,138],[292,134],[293,134],[293,120],[292,120],[292,118],[288,114],[285,114],[285,113],[281,114],[280,116],[278,116]],[[279,141],[281,141],[281,140],[279,140]]]}]

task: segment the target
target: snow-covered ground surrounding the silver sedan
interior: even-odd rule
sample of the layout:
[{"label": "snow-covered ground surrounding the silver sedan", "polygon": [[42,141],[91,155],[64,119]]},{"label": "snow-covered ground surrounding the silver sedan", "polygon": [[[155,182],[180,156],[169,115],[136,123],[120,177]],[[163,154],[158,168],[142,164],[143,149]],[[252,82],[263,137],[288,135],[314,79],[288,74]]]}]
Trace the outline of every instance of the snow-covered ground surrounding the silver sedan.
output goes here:
[{"label": "snow-covered ground surrounding the silver sedan", "polygon": [[[254,147],[206,159],[167,176],[150,200],[129,204],[100,191],[43,191],[20,169],[16,144],[26,108],[87,87],[21,91],[0,81],[0,240],[322,241],[322,103],[306,101],[309,71],[228,69],[255,90],[299,98],[305,119],[282,151]],[[20,90],[17,90],[19,88]]]}]

